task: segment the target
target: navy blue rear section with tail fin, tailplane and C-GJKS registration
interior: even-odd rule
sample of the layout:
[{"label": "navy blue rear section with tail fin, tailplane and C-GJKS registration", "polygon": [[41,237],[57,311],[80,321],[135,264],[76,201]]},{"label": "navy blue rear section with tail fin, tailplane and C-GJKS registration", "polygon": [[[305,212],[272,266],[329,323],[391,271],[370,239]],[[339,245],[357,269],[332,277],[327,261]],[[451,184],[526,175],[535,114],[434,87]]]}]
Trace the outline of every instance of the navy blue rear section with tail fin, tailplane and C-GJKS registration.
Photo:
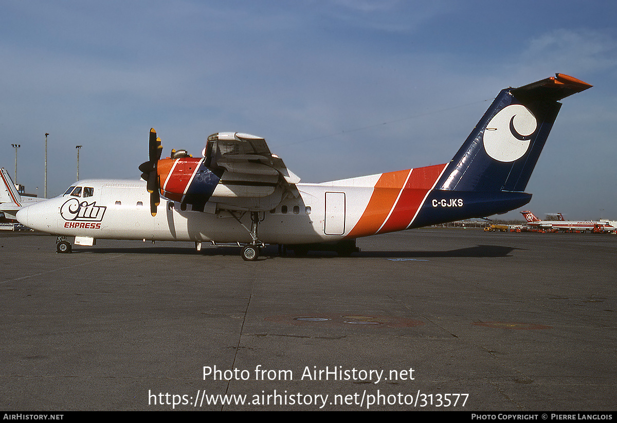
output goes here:
[{"label": "navy blue rear section with tail fin, tailplane and C-GJKS registration", "polygon": [[503,89],[445,167],[410,228],[505,213],[531,200],[524,192],[561,108],[591,85],[557,73]]}]

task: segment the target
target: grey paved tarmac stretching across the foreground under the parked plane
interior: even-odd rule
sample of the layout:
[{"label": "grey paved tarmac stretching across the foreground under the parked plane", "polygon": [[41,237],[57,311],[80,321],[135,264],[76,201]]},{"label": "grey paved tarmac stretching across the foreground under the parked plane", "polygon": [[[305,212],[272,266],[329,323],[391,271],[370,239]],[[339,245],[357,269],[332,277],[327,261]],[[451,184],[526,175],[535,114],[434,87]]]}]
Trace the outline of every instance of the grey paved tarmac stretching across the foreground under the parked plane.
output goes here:
[{"label": "grey paved tarmac stretching across the foreground under the parked plane", "polygon": [[55,240],[0,233],[5,411],[617,409],[617,236]]}]

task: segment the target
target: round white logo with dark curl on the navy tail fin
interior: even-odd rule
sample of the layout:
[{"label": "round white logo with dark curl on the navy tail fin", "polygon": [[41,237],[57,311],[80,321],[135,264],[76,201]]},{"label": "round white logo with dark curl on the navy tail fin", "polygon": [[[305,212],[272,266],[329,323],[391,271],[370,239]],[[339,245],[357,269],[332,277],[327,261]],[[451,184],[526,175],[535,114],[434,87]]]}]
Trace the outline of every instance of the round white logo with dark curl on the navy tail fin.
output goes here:
[{"label": "round white logo with dark curl on the navy tail fin", "polygon": [[499,162],[514,162],[529,149],[537,120],[520,104],[511,104],[499,111],[486,125],[484,150]]}]

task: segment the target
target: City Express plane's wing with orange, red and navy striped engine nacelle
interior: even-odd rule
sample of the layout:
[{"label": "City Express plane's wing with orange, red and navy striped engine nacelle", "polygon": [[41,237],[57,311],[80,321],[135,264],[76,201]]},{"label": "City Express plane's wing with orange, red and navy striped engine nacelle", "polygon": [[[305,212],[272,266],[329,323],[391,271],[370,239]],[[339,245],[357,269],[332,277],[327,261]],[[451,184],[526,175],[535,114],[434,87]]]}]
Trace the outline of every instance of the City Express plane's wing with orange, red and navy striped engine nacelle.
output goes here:
[{"label": "City Express plane's wing with orange, red and navy striped engine nacelle", "polygon": [[203,155],[193,158],[182,151],[159,160],[161,195],[212,213],[271,210],[283,199],[299,195],[300,178],[270,152],[263,138],[212,134]]}]

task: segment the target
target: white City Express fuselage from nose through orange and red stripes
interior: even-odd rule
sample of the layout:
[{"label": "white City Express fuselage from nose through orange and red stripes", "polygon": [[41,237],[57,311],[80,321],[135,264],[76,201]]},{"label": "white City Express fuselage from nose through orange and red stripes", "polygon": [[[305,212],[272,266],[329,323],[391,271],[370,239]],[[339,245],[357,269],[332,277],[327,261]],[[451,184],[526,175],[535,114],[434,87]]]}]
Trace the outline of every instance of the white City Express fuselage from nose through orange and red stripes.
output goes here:
[{"label": "white City Express fuselage from nose through orange and red stripes", "polygon": [[[418,187],[405,185],[413,170],[296,184],[298,197],[259,213],[259,238],[266,244],[308,244],[406,229],[444,167],[435,166],[434,175]],[[191,205],[162,199],[152,216],[149,199],[145,181],[91,179],[23,208],[18,218],[58,236],[251,242],[248,212],[218,210],[215,202],[206,211],[193,211]]]}]

